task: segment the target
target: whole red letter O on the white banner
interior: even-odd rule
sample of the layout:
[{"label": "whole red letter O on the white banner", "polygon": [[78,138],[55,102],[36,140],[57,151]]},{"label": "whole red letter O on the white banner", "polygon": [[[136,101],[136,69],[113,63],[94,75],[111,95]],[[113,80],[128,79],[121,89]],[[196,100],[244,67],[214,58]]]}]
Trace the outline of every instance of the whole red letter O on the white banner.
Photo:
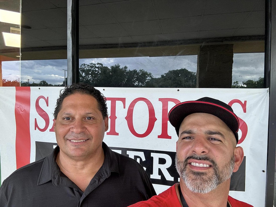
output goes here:
[{"label": "whole red letter O on the white banner", "polygon": [[[145,131],[144,134],[138,134],[134,130],[134,126],[133,126],[133,110],[134,110],[135,104],[139,101],[144,101],[148,106],[148,116],[149,116],[148,117],[148,128],[147,128],[147,130]],[[129,128],[130,132],[136,137],[146,137],[146,136],[148,136],[152,132],[155,121],[157,120],[156,117],[155,117],[155,112],[154,112],[154,108],[153,108],[152,103],[148,99],[142,98],[142,97],[134,99],[130,103],[129,108],[128,108],[128,113],[127,113],[125,119],[128,123],[128,128]]]}]

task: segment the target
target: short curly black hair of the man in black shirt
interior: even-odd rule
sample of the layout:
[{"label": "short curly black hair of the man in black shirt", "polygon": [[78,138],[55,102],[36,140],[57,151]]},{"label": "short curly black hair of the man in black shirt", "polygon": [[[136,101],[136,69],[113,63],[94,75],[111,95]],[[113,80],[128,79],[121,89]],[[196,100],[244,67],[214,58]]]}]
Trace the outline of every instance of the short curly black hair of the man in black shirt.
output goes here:
[{"label": "short curly black hair of the man in black shirt", "polygon": [[60,90],[59,98],[57,99],[57,105],[54,110],[54,118],[57,119],[57,114],[60,112],[62,102],[68,95],[71,94],[87,94],[93,96],[98,102],[98,108],[102,112],[103,118],[108,117],[107,105],[105,96],[93,86],[84,83],[73,83],[71,86],[66,86],[65,89]]}]

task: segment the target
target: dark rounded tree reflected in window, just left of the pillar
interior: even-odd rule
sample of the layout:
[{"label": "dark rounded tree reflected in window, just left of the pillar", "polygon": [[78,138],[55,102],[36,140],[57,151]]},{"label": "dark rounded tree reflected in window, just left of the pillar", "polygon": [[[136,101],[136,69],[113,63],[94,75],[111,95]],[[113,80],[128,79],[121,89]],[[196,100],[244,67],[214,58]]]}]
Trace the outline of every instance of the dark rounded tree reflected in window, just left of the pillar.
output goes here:
[{"label": "dark rounded tree reflected in window, just left of the pillar", "polygon": [[196,73],[186,68],[170,70],[168,73],[161,75],[160,78],[152,78],[146,83],[146,87],[158,88],[195,88],[196,86]]}]

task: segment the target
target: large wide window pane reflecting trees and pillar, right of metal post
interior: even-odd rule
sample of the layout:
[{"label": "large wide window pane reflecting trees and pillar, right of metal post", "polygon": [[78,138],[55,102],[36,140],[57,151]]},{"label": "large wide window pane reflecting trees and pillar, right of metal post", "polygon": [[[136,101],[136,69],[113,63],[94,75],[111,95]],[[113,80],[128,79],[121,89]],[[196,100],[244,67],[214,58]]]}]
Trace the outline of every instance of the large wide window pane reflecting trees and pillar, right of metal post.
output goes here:
[{"label": "large wide window pane reflecting trees and pillar, right of metal post", "polygon": [[[264,10],[258,0],[80,0],[80,81],[90,74],[105,87],[259,87]],[[136,72],[140,82],[124,78]]]}]

